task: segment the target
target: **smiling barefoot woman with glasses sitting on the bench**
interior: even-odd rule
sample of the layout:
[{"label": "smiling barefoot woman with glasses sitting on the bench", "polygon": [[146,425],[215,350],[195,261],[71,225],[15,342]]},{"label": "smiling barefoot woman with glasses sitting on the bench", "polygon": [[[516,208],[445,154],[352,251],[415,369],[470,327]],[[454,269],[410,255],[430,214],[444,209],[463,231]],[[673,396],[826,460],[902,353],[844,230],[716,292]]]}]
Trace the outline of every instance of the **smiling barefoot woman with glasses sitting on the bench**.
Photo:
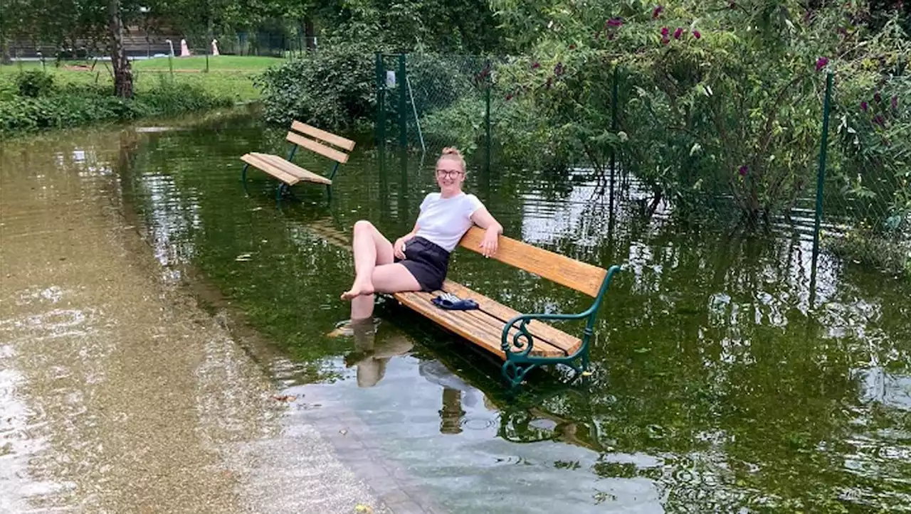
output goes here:
[{"label": "smiling barefoot woman with glasses sitting on the bench", "polygon": [[352,321],[372,317],[374,293],[435,291],[443,287],[449,253],[471,228],[486,228],[481,253],[496,253],[503,227],[474,195],[462,191],[465,159],[455,148],[444,148],[436,161],[439,193],[421,202],[415,228],[390,243],[369,221],[354,224],[354,283],[342,295],[351,300]]}]

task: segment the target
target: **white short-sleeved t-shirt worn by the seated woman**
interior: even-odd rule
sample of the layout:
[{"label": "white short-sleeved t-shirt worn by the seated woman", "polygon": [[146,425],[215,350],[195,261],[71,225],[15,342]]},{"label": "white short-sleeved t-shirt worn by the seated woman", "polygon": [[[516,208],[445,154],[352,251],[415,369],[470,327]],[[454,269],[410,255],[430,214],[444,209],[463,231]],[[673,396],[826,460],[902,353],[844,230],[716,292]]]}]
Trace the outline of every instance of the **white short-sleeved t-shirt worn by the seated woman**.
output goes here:
[{"label": "white short-sleeved t-shirt worn by the seated woman", "polygon": [[439,193],[431,193],[421,202],[415,237],[424,237],[451,252],[471,228],[471,215],[481,207],[484,204],[474,195],[459,193],[455,197],[443,198]]}]

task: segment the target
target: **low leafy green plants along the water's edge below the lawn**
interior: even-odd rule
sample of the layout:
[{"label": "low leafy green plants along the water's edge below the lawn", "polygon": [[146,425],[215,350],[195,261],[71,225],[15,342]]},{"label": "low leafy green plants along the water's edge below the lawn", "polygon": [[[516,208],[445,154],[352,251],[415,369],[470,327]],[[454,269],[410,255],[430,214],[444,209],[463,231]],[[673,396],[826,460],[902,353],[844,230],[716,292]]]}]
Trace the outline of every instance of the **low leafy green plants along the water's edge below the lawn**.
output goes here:
[{"label": "low leafy green plants along the water's edge below the lawn", "polygon": [[226,105],[230,100],[192,86],[159,86],[132,99],[111,96],[97,87],[69,87],[50,96],[0,100],[0,134],[176,115]]}]

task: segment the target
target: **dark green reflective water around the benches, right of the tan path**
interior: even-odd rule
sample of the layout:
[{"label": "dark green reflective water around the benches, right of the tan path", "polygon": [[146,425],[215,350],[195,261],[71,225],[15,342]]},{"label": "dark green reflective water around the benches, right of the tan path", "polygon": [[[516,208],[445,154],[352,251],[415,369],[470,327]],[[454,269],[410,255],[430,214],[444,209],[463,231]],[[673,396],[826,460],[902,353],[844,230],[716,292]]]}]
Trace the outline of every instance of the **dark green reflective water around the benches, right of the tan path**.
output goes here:
[{"label": "dark green reflective water around the benches, right of the tan path", "polygon": [[[911,505],[908,288],[825,254],[811,288],[800,220],[743,237],[677,223],[635,176],[601,197],[585,170],[471,166],[467,189],[507,235],[625,263],[599,317],[589,384],[549,394],[543,377],[532,398],[500,398],[496,363],[392,302],[377,315],[415,348],[383,349],[379,332],[355,343],[373,350],[343,358],[350,347],[325,336],[348,317],[336,293],[351,278],[354,221],[406,232],[432,163],[374,160],[359,143],[328,206],[302,188],[300,203],[278,211],[266,178],[251,180],[250,197],[238,185],[244,148],[269,151],[255,122],[156,136],[121,172],[150,244],[199,269],[281,345],[296,370],[286,383],[312,382],[301,393],[316,411],[363,413],[384,459],[456,511]],[[470,252],[454,253],[451,275],[523,312],[588,305]]]}]

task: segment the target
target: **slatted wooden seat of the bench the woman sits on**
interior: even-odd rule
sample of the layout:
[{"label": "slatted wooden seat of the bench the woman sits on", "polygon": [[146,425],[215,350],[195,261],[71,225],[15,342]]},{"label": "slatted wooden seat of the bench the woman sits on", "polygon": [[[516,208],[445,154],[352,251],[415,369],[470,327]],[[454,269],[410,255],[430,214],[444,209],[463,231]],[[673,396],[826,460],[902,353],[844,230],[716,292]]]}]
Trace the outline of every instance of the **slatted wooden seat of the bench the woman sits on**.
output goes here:
[{"label": "slatted wooden seat of the bench the woman sits on", "polygon": [[[518,313],[450,280],[446,280],[443,288],[446,292],[458,297],[470,297],[476,300],[480,308],[459,311],[436,307],[430,300],[436,297],[439,291],[434,293],[397,293],[394,297],[402,302],[405,307],[414,309],[444,328],[448,328],[459,336],[476,343],[497,357],[505,359],[506,355],[500,346],[503,327],[506,325],[506,320],[517,316]],[[527,328],[535,338],[532,355],[536,357],[566,357],[578,350],[582,344],[579,338],[574,338],[547,323],[531,321]],[[515,335],[516,333],[516,328],[510,330],[510,335]]]}]

